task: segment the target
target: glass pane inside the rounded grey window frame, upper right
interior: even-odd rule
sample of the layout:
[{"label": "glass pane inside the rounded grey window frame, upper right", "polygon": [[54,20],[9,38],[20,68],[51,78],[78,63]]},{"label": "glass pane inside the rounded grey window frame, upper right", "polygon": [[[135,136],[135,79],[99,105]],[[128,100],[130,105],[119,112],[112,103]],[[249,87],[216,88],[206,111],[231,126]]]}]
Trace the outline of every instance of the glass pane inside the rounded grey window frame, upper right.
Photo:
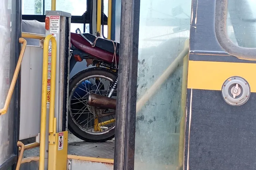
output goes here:
[{"label": "glass pane inside the rounded grey window frame, upper right", "polygon": [[227,33],[244,48],[256,48],[256,1],[228,0]]}]

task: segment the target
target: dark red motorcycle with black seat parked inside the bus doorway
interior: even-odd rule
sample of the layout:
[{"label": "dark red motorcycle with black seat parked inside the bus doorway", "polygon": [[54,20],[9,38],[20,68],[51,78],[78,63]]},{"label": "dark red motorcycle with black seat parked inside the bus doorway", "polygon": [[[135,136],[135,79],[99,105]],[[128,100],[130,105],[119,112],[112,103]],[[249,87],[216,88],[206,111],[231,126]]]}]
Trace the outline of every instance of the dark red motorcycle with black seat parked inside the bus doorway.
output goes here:
[{"label": "dark red motorcycle with black seat parked inside the bus doorway", "polygon": [[115,107],[91,106],[88,98],[96,94],[116,101],[119,43],[81,33],[80,29],[71,33],[70,42],[70,71],[83,60],[87,67],[96,67],[84,69],[70,79],[68,129],[84,141],[110,140],[115,135]]}]

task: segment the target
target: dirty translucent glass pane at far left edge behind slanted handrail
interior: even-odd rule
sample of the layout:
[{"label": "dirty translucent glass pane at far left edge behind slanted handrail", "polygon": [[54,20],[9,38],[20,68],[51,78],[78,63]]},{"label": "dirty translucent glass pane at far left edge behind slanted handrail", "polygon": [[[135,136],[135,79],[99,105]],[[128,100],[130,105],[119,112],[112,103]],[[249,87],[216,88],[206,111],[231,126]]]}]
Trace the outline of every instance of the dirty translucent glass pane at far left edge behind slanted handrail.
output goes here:
[{"label": "dirty translucent glass pane at far left edge behind slanted handrail", "polygon": [[[18,6],[17,6],[18,8]],[[16,1],[0,0],[0,109],[4,108],[15,69]],[[0,116],[0,169],[6,169],[13,156],[14,146],[14,94],[8,111]],[[11,160],[11,159],[9,159]],[[10,165],[11,166],[11,165]]]}]

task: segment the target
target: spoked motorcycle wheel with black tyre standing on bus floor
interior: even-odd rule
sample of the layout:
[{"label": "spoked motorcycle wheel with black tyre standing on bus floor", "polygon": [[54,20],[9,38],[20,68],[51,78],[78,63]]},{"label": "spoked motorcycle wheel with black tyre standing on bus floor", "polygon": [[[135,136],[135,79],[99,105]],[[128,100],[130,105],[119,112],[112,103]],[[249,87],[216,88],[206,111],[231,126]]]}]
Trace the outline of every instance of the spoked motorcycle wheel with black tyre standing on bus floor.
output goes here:
[{"label": "spoked motorcycle wheel with black tyre standing on bus floor", "polygon": [[[102,114],[114,113],[110,116],[95,116],[95,108],[87,105],[87,97],[89,93],[108,96],[116,77],[117,74],[109,69],[94,67],[82,70],[70,79],[68,129],[76,137],[87,142],[104,142],[114,138],[115,110],[101,111]],[[116,91],[112,98],[116,98]],[[105,124],[106,121],[109,123]],[[97,125],[100,125],[100,130]]]}]

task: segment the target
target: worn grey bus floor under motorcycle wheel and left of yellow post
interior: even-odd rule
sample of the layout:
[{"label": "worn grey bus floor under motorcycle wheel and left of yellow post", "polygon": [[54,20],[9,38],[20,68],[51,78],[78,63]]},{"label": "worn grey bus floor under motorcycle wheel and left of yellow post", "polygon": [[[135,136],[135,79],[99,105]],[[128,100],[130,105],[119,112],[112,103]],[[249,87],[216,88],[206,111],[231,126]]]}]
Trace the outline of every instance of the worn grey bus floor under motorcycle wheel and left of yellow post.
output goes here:
[{"label": "worn grey bus floor under motorcycle wheel and left of yellow post", "polygon": [[[35,142],[35,137],[24,139],[22,142],[28,145]],[[114,139],[100,143],[85,142],[69,132],[68,154],[114,159],[114,143]],[[39,147],[24,151],[23,156],[39,156]]]}]

